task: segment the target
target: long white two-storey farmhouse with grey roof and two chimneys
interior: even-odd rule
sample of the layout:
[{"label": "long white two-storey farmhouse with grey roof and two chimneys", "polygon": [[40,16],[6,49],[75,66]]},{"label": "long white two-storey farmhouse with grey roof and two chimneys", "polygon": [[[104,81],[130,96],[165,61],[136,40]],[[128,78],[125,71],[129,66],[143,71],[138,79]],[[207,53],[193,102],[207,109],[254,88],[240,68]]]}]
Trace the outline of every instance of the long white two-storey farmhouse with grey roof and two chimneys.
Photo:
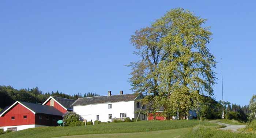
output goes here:
[{"label": "long white two-storey farmhouse with grey roof and two chimneys", "polygon": [[[108,96],[95,96],[78,98],[71,106],[74,107],[74,112],[81,115],[87,121],[99,120],[101,122],[112,121],[113,119],[124,119],[129,117],[133,119],[137,117],[140,109],[146,110],[146,105],[142,106],[138,99],[142,96],[135,94],[112,95],[111,91]],[[147,115],[140,114],[140,120],[147,120]]]}]

